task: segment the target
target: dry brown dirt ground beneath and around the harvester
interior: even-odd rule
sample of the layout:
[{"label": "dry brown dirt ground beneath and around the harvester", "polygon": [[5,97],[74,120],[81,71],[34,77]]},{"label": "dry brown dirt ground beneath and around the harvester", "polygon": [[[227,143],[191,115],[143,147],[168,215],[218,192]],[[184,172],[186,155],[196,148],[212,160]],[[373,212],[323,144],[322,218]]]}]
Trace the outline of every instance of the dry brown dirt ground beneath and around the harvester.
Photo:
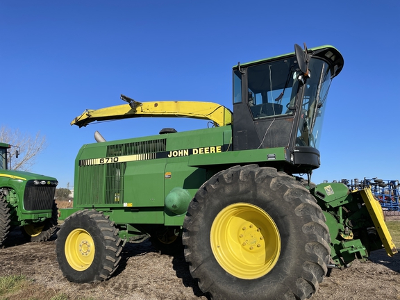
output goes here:
[{"label": "dry brown dirt ground beneath and around the harvester", "polygon": [[[55,238],[47,242],[24,243],[19,229],[12,231],[0,249],[1,276],[26,275],[33,281],[37,299],[46,298],[49,292],[62,292],[69,299],[208,299],[190,276],[183,253],[162,255],[148,241],[126,244],[122,263],[108,281],[69,283],[58,269]],[[18,295],[20,300],[29,297],[31,292]],[[400,253],[390,258],[384,250],[374,251],[369,263],[356,261],[344,271],[333,269],[312,299],[400,300]]]}]

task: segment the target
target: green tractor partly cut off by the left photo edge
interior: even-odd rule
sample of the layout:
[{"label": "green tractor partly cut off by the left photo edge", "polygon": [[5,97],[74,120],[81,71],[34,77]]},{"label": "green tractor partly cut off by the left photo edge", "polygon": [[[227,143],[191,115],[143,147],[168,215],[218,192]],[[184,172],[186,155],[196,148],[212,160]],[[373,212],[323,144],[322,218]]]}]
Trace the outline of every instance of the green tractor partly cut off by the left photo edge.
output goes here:
[{"label": "green tractor partly cut off by the left photo edge", "polygon": [[[0,143],[0,246],[12,228],[21,226],[26,240],[42,242],[57,228],[56,178],[8,169],[8,149]],[[17,152],[18,153],[18,152]]]}]

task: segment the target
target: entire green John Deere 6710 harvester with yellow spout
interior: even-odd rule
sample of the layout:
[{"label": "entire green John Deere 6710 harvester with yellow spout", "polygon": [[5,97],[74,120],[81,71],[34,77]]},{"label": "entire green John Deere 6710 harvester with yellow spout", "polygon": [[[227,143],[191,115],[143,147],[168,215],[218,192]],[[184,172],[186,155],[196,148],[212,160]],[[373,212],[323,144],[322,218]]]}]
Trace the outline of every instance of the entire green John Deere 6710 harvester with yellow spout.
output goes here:
[{"label": "entire green John Deere 6710 harvester with yellow spout", "polygon": [[150,238],[163,251],[183,243],[192,276],[213,299],[306,299],[328,267],[382,247],[397,252],[368,188],[310,182],[328,89],[344,60],[331,46],[294,49],[233,67],[233,113],[122,95],[127,104],[72,121],[192,117],[214,126],[113,142],[96,133],[98,142],[81,148],[74,208],[61,210],[56,241],[69,281],[106,280],[125,242]]}]

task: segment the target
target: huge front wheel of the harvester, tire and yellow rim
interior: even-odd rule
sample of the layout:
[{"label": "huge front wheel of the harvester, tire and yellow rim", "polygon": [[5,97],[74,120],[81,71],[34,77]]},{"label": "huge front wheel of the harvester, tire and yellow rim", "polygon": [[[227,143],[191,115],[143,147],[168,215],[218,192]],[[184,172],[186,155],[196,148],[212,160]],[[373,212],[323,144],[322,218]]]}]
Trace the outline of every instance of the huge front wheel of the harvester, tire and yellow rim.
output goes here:
[{"label": "huge front wheel of the harvester, tire and yellow rim", "polygon": [[292,176],[236,166],[197,191],[183,224],[185,259],[214,299],[306,299],[327,272],[330,237]]}]

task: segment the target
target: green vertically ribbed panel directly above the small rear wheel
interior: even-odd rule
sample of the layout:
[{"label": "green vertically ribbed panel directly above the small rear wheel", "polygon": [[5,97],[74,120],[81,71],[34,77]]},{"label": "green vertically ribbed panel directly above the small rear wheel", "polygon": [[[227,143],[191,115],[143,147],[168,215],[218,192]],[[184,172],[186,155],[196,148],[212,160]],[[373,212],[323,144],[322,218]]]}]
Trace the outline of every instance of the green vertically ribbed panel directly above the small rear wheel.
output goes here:
[{"label": "green vertically ribbed panel directly above the small rear wheel", "polygon": [[104,169],[105,165],[79,167],[78,195],[76,203],[104,203]]}]

